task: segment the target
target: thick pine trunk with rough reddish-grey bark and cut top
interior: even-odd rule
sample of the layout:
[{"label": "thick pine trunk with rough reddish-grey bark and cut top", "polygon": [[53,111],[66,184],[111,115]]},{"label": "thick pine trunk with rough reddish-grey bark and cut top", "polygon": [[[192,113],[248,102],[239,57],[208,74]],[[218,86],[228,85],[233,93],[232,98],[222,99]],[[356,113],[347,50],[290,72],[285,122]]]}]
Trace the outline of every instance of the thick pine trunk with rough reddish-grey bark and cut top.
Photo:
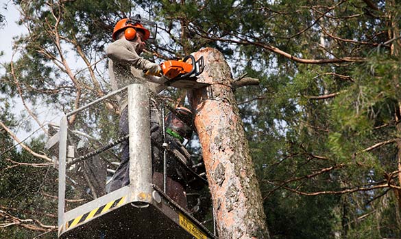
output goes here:
[{"label": "thick pine trunk with rough reddish-grey bark and cut top", "polygon": [[195,59],[203,55],[205,61],[198,81],[210,84],[193,91],[190,98],[219,238],[269,238],[258,181],[232,92],[230,67],[214,48],[194,55]]}]

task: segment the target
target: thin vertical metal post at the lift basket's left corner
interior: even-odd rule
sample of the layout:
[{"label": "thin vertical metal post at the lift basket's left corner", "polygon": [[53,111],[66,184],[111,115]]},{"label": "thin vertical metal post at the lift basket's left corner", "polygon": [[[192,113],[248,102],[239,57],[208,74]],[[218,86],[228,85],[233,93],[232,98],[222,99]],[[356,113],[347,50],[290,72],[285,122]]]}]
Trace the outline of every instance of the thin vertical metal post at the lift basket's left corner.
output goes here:
[{"label": "thin vertical metal post at the lift basket's left corner", "polygon": [[65,210],[65,178],[66,178],[66,147],[67,147],[67,117],[64,115],[60,121],[59,151],[58,151],[58,228],[64,225]]}]

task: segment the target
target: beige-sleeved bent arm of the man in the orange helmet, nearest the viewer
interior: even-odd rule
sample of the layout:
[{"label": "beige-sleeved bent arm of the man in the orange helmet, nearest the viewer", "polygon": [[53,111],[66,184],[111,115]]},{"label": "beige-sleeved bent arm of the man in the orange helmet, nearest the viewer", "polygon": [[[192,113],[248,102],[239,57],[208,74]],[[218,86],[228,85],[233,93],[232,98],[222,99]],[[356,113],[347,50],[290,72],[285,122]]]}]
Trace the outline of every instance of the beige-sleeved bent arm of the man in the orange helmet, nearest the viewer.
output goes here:
[{"label": "beige-sleeved bent arm of the man in the orange helmet, nearest the viewer", "polygon": [[106,55],[115,63],[132,66],[139,70],[149,70],[157,64],[140,57],[134,45],[125,39],[119,39],[106,48]]}]

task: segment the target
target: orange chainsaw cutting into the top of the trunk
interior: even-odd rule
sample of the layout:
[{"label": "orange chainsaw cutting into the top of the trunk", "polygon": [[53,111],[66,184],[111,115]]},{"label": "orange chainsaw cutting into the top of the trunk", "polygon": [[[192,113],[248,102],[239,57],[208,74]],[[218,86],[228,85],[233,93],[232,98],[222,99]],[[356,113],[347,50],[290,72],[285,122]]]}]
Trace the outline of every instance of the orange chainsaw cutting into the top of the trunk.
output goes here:
[{"label": "orange chainsaw cutting into the top of the trunk", "polygon": [[[188,63],[191,59],[191,63]],[[209,84],[197,82],[197,76],[204,71],[204,57],[201,56],[197,61],[193,55],[187,55],[184,59],[176,61],[169,60],[160,64],[162,76],[169,79],[165,85],[184,89],[199,89]]]}]

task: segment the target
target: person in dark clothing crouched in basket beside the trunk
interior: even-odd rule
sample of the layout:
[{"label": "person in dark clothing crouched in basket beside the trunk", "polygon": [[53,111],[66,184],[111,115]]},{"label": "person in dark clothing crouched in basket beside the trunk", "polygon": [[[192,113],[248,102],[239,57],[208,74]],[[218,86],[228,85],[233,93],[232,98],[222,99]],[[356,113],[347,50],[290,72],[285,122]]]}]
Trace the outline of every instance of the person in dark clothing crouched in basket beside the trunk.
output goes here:
[{"label": "person in dark clothing crouched in basket beside the trunk", "polygon": [[[193,130],[186,122],[192,122],[192,112],[185,107],[177,107],[176,114],[169,112],[165,119],[166,138],[165,141],[169,154],[167,154],[167,195],[171,197],[182,208],[187,207],[186,184],[188,183],[188,171],[185,167],[191,167],[191,154],[185,149],[184,139],[190,140]],[[174,154],[171,154],[174,152]],[[163,188],[163,160],[154,164],[153,183]]]}]

